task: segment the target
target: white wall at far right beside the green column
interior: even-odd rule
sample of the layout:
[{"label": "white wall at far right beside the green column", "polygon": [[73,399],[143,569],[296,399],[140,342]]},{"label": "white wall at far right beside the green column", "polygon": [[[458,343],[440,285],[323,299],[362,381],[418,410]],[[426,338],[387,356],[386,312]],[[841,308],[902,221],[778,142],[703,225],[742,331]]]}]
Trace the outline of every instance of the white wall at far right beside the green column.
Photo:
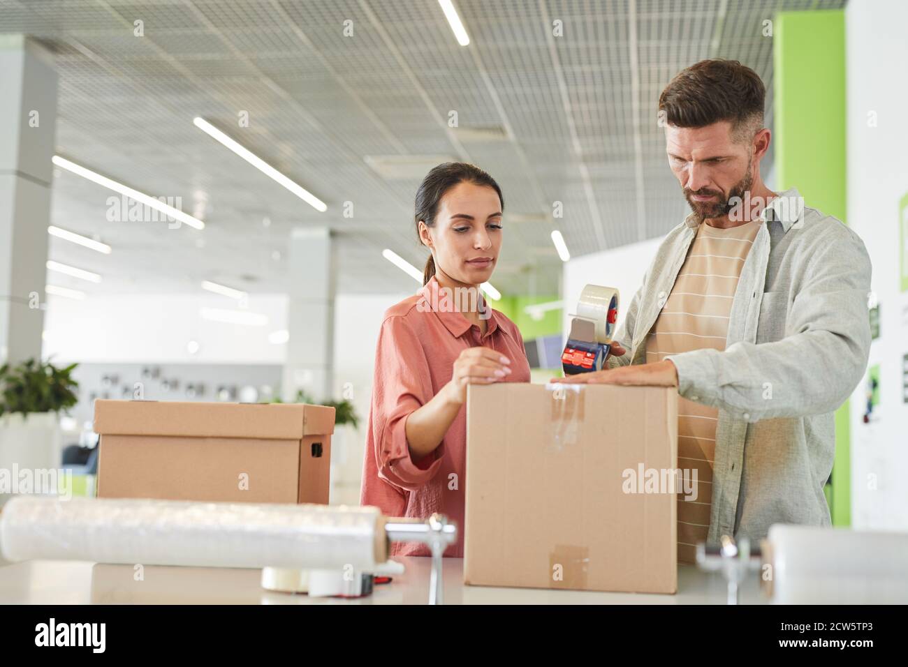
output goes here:
[{"label": "white wall at far right beside the green column", "polygon": [[[899,201],[908,194],[908,3],[862,0],[845,10],[848,224],[873,261],[880,338],[869,366],[880,367],[880,403],[864,424],[866,388],[852,397],[852,523],[856,528],[908,528],[908,291],[900,289]],[[873,126],[873,114],[876,125]],[[902,224],[908,226],[908,212]],[[908,258],[906,258],[908,260]],[[906,263],[908,266],[908,263]]]}]

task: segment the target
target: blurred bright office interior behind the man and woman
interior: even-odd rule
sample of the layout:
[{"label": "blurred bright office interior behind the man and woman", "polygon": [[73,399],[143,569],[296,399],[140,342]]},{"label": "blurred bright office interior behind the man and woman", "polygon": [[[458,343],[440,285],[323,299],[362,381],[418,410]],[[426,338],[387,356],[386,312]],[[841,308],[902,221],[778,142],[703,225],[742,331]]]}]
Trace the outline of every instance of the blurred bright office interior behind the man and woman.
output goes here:
[{"label": "blurred bright office interior behind the man and woman", "polygon": [[357,503],[381,315],[427,257],[422,176],[460,160],[502,186],[494,306],[548,378],[583,285],[627,304],[686,215],[656,100],[722,57],[766,84],[769,186],[798,187],[873,258],[834,522],[908,527],[908,5],[455,0],[465,35],[442,5],[0,0],[0,362],[77,363],[79,382],[68,417],[3,417],[6,440],[31,424],[90,447],[95,397],[302,389],[360,417],[338,428],[331,489]]}]

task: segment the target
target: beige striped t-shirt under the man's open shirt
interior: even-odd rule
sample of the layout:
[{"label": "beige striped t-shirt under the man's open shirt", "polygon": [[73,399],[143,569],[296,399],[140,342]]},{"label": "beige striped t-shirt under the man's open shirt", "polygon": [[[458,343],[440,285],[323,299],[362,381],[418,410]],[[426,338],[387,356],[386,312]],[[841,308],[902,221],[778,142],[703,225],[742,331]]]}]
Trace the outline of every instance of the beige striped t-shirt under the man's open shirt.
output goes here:
[{"label": "beige striped t-shirt under the man's open shirt", "polygon": [[[646,361],[700,348],[725,349],[728,316],[741,267],[761,221],[727,230],[701,222],[678,271],[665,307],[646,338]],[[696,563],[696,544],[706,542],[713,499],[718,410],[678,397],[678,467],[693,483],[695,500],[678,488],[678,562]]]}]

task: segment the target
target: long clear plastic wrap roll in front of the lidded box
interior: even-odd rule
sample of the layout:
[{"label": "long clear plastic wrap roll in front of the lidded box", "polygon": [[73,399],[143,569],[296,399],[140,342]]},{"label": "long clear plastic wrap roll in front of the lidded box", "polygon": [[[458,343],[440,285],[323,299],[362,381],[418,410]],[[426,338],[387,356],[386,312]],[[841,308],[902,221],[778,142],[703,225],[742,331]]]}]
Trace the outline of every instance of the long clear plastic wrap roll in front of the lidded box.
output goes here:
[{"label": "long clear plastic wrap roll in front of the lidded box", "polygon": [[58,500],[19,496],[0,514],[7,560],[371,571],[387,560],[377,507]]}]

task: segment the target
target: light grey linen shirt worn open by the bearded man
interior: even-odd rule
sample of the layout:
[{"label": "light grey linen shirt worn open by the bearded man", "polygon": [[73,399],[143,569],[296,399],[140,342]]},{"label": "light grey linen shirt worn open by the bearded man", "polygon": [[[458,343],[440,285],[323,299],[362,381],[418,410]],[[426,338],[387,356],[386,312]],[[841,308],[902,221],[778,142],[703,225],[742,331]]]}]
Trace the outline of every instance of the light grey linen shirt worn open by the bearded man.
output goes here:
[{"label": "light grey linen shirt worn open by the bearded man", "polygon": [[[779,193],[738,280],[725,350],[668,355],[678,393],[718,408],[707,541],[765,537],[773,524],[830,525],[823,487],[833,468],[834,410],[864,376],[871,264],[841,221]],[[656,251],[615,340],[609,368],[646,363],[646,334],[665,306],[698,221]],[[847,474],[847,473],[846,473]]]}]

